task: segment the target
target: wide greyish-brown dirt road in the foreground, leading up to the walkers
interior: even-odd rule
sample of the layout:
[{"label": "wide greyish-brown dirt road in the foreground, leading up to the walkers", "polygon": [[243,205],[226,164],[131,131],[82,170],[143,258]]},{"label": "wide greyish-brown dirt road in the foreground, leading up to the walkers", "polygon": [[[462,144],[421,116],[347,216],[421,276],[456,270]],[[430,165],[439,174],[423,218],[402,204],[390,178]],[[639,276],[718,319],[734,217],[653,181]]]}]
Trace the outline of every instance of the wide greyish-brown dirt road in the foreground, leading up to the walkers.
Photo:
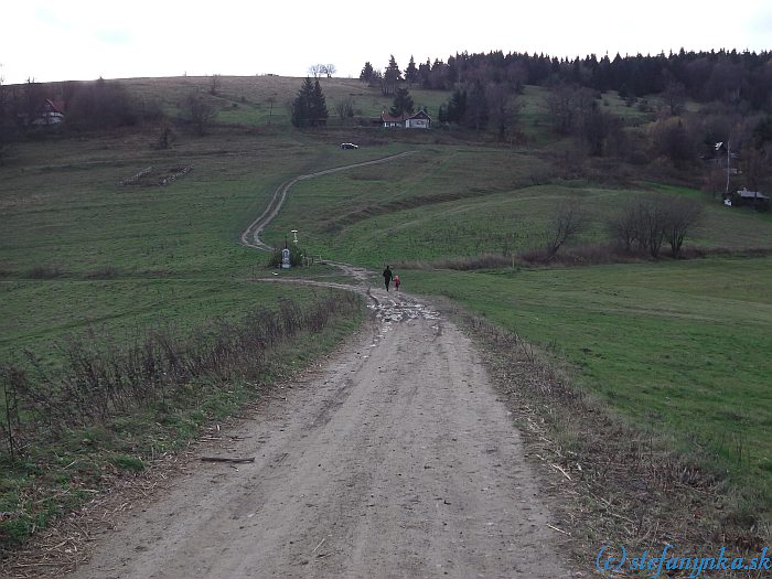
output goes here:
[{"label": "wide greyish-brown dirt road in the foreground, leading up to the walkers", "polygon": [[570,577],[474,345],[405,296],[234,431],[72,578]]}]

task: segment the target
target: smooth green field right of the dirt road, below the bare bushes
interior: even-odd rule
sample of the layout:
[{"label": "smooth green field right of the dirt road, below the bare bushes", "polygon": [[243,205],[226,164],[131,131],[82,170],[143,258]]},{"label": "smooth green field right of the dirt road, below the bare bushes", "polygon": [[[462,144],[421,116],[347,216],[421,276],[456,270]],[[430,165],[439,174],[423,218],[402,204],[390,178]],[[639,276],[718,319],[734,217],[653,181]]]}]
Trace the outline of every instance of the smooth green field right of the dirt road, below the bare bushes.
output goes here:
[{"label": "smooth green field right of the dirt road, below the bare bushes", "polygon": [[403,272],[567,360],[578,385],[772,498],[772,259]]}]

